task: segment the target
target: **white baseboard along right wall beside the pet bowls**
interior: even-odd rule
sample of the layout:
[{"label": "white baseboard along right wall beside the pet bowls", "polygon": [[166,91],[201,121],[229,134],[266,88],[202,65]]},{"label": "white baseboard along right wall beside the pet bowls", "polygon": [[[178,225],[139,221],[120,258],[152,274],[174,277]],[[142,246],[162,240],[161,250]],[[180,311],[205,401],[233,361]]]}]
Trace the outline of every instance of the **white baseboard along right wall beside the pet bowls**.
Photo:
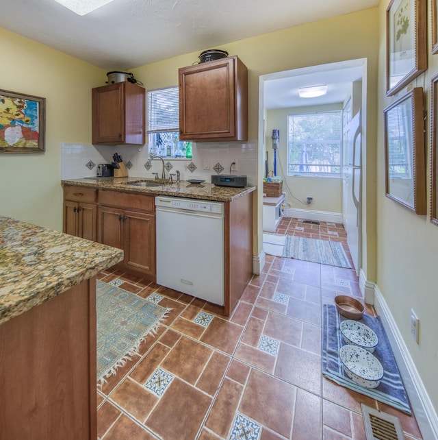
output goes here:
[{"label": "white baseboard along right wall beside the pet bowls", "polygon": [[378,315],[381,316],[383,327],[387,332],[394,356],[396,357],[398,369],[402,376],[409,401],[415,413],[418,426],[422,432],[423,439],[438,439],[438,417],[424,384],[413,363],[411,354],[402,339],[400,330],[394,321],[385,298],[377,285],[374,285],[375,304]]}]

